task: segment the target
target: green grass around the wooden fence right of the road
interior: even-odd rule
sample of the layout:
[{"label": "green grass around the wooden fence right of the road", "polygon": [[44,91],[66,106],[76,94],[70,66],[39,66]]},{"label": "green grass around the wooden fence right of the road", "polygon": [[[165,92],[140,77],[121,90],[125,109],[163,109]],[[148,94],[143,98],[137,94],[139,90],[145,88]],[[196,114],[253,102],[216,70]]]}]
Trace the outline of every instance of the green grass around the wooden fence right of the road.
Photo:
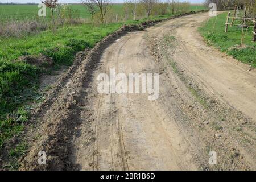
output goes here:
[{"label": "green grass around the wooden fence right of the road", "polygon": [[[235,57],[236,59],[242,61],[242,63],[251,64],[256,67],[256,42],[252,41],[253,34],[251,33],[252,28],[247,30],[245,36],[244,44],[245,47],[240,47],[241,44],[241,28],[237,26],[228,27],[228,32],[225,33],[225,23],[226,23],[227,13],[222,13],[217,16],[216,27],[213,30],[213,24],[216,18],[210,18],[207,22],[199,28],[201,35],[212,44],[217,47],[222,52],[226,52],[228,55]],[[231,20],[230,20],[231,22]],[[241,24],[241,22],[236,21],[235,23]]]}]

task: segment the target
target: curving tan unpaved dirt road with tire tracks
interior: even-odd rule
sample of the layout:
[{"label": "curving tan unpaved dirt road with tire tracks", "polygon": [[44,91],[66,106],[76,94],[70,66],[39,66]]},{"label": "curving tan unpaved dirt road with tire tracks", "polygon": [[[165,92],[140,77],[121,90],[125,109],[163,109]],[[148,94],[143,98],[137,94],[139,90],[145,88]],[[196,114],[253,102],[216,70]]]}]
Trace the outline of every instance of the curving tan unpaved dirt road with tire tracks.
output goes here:
[{"label": "curving tan unpaved dirt road with tire tracks", "polygon": [[[78,96],[65,169],[256,169],[256,72],[204,43],[197,27],[206,19],[168,20],[105,49]],[[159,98],[99,94],[97,76],[110,69],[159,73]],[[217,165],[208,163],[210,151]]]}]

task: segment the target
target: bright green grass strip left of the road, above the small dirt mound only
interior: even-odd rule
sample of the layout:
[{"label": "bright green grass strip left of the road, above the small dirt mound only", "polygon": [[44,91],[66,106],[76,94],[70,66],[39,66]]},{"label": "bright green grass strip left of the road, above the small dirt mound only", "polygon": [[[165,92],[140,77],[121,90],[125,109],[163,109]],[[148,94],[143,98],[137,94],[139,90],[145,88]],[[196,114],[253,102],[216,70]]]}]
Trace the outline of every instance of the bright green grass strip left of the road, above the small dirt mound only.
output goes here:
[{"label": "bright green grass strip left of the road, above the small dirt mound only", "polygon": [[53,57],[55,63],[70,65],[72,55],[85,47],[93,47],[96,42],[117,30],[122,23],[101,26],[82,24],[51,30],[24,38],[0,38],[0,57],[2,60],[15,60],[22,55],[45,55]]}]

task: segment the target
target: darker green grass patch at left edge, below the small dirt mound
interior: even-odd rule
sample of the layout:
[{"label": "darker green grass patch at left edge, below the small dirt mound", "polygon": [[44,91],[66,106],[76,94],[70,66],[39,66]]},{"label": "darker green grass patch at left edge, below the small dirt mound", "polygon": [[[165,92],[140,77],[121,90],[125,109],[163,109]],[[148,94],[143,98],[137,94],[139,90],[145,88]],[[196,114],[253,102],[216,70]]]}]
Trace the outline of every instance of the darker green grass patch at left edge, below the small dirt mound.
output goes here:
[{"label": "darker green grass patch at left edge, below the small dirt mound", "polygon": [[22,131],[21,124],[27,120],[22,105],[34,94],[32,80],[38,72],[32,65],[0,61],[0,147]]}]

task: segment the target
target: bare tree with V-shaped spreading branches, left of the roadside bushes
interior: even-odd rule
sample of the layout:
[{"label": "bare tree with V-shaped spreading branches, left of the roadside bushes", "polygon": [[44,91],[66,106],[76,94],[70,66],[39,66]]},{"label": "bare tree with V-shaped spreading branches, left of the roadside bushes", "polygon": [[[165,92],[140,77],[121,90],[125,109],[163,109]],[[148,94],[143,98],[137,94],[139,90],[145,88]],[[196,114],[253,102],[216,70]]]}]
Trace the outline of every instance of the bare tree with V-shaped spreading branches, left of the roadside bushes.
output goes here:
[{"label": "bare tree with V-shaped spreading branches, left of the roadside bushes", "polygon": [[81,0],[81,1],[92,17],[98,16],[98,19],[100,19],[100,22],[104,23],[105,15],[111,9],[110,0]]}]

